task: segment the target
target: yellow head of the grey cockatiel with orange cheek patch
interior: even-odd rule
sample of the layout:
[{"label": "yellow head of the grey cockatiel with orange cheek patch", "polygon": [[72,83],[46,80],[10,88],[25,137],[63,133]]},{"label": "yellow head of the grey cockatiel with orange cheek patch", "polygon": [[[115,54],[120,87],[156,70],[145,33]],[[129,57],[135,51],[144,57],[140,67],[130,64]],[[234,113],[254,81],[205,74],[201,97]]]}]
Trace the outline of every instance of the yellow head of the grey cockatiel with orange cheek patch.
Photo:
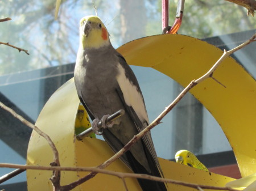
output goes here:
[{"label": "yellow head of the grey cockatiel with orange cheek patch", "polygon": [[80,48],[100,48],[109,45],[109,33],[98,16],[85,16],[80,20]]}]

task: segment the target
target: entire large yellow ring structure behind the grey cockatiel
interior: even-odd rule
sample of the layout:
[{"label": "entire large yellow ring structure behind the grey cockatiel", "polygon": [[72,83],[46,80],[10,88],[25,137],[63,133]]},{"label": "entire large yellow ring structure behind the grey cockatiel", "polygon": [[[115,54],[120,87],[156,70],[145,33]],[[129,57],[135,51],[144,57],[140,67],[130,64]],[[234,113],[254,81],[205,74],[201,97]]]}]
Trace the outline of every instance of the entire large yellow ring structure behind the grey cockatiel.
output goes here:
[{"label": "entire large yellow ring structure behind the grey cockatiel", "polygon": [[[203,75],[221,56],[220,49],[183,35],[157,35],[131,41],[118,51],[130,65],[153,67],[154,69],[187,86],[192,79]],[[255,80],[236,63],[227,58],[214,73],[223,87],[212,79],[193,88],[191,93],[205,105],[219,122],[233,147],[243,176],[255,172],[256,151],[253,148],[256,103]],[[171,101],[171,100],[170,100]],[[61,86],[42,109],[36,126],[55,142],[62,166],[91,167],[101,164],[113,155],[104,141],[75,138],[75,117],[79,99],[73,79]],[[247,145],[251,145],[248,147]],[[27,165],[49,165],[53,160],[51,148],[34,131],[28,145]],[[192,167],[160,159],[166,178],[198,184],[224,186],[232,178],[201,171]],[[131,172],[117,160],[108,168],[118,172]],[[28,190],[52,190],[52,172],[27,171]],[[61,172],[61,185],[68,184],[86,175],[86,172]],[[141,190],[136,180],[127,179],[129,190]],[[170,190],[195,190],[168,184]],[[122,180],[99,174],[73,190],[125,190]]]}]

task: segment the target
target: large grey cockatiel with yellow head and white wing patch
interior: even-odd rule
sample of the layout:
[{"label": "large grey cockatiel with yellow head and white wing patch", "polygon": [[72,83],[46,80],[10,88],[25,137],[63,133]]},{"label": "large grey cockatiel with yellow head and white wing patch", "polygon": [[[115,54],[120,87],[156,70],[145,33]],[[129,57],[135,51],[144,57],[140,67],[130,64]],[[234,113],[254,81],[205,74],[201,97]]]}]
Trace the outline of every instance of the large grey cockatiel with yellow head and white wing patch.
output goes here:
[{"label": "large grey cockatiel with yellow head and white wing patch", "polygon": [[[138,81],[125,58],[113,48],[109,33],[97,16],[85,16],[80,21],[80,46],[74,75],[77,94],[94,125],[107,114],[125,110],[112,128],[102,129],[105,141],[115,152],[146,128],[148,116]],[[121,159],[135,173],[163,176],[150,133]],[[163,182],[138,181],[143,191],[167,190]]]}]

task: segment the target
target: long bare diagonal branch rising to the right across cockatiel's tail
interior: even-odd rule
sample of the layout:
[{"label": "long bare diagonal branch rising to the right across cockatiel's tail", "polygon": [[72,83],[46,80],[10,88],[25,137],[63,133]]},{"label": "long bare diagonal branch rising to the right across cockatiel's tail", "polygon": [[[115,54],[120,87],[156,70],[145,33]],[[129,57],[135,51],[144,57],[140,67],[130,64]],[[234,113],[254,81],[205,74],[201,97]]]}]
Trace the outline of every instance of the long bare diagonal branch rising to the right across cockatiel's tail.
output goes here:
[{"label": "long bare diagonal branch rising to the right across cockatiel's tail", "polygon": [[[135,142],[137,142],[138,139],[140,139],[144,134],[146,134],[148,131],[150,131],[152,128],[154,128],[156,125],[160,124],[163,117],[166,116],[166,114],[169,113],[172,110],[172,108],[175,107],[175,105],[177,103],[179,103],[179,101],[185,96],[185,94],[187,94],[187,92],[189,90],[191,90],[191,88],[193,88],[200,82],[203,82],[205,79],[209,78],[213,74],[213,72],[217,69],[218,65],[220,65],[220,63],[222,61],[224,61],[224,59],[226,57],[228,57],[230,54],[236,52],[237,50],[240,50],[244,46],[253,42],[255,40],[255,37],[256,37],[256,33],[249,40],[245,41],[245,43],[237,46],[236,48],[234,48],[232,50],[229,50],[228,52],[224,51],[221,58],[213,65],[213,67],[205,75],[203,75],[203,77],[200,77],[199,79],[196,79],[196,80],[192,80],[192,82],[189,83],[188,86],[184,88],[184,90],[179,94],[179,96],[177,96],[176,99],[174,101],[172,101],[172,103],[170,105],[168,105],[168,107],[154,121],[152,121],[150,125],[148,125],[145,129],[143,129],[137,135],[134,135],[134,137],[121,150],[119,150],[117,153],[115,153],[110,159],[106,160],[104,163],[98,165],[98,168],[106,168],[106,167],[108,167],[108,165],[110,165],[115,160],[120,158],[127,150],[130,149],[131,146],[133,146],[133,144]],[[75,182],[72,182],[71,184],[61,186],[61,187],[63,188],[63,191],[71,190],[71,189],[75,188],[76,186],[82,184],[83,182],[85,182],[89,179],[92,179],[96,175],[97,175],[97,172],[91,172],[91,173],[89,173],[89,175],[86,175],[85,177],[82,177],[81,179],[79,179]]]}]

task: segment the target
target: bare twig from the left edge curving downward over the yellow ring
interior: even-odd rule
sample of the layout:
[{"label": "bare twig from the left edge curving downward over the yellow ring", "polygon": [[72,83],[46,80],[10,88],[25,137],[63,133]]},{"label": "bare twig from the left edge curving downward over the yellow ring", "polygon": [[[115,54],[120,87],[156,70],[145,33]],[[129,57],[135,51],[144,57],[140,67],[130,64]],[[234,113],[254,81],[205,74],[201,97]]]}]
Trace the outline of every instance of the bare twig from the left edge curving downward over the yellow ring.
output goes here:
[{"label": "bare twig from the left edge curving downward over the yellow ring", "polygon": [[[53,143],[52,139],[46,133],[44,133],[42,130],[40,130],[37,126],[35,126],[31,122],[25,120],[22,116],[20,116],[18,113],[16,113],[13,109],[7,107],[1,101],[0,101],[0,107],[5,109],[5,111],[11,113],[15,118],[17,118],[23,124],[27,125],[31,129],[35,130],[36,133],[38,133],[43,138],[45,138],[46,141],[48,142],[49,146],[52,148],[52,152],[53,152],[53,163],[51,163],[51,165],[53,165],[53,166],[60,166],[59,152],[58,152],[55,144]],[[59,177],[60,177],[60,172],[59,171],[53,172],[53,176],[52,176],[53,184],[55,184],[55,183],[59,184],[59,181],[60,181]]]}]

